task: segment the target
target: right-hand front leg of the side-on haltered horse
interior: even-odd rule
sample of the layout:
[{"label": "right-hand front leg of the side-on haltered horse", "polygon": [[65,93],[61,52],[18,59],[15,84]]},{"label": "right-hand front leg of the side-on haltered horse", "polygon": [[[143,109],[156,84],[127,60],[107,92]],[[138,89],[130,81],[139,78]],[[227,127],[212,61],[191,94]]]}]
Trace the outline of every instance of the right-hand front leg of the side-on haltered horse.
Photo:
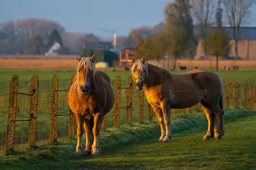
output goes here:
[{"label": "right-hand front leg of the side-on haltered horse", "polygon": [[170,139],[172,138],[172,132],[170,128],[170,122],[171,122],[171,108],[169,104],[163,103],[161,105],[162,111],[163,111],[163,119],[164,119],[164,125],[166,127],[166,134],[162,142],[170,142]]}]

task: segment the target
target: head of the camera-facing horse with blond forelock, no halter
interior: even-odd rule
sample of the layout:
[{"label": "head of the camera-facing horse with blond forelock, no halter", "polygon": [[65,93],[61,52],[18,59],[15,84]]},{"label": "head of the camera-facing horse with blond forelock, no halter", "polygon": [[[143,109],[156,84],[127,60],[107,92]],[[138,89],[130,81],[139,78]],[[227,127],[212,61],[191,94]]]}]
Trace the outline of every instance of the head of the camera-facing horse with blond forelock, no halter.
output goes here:
[{"label": "head of the camera-facing horse with blond forelock, no halter", "polygon": [[95,55],[91,58],[83,57],[81,59],[75,57],[79,63],[77,66],[77,85],[82,95],[88,95],[90,92],[91,82],[94,79],[95,69],[93,62],[95,61]]}]

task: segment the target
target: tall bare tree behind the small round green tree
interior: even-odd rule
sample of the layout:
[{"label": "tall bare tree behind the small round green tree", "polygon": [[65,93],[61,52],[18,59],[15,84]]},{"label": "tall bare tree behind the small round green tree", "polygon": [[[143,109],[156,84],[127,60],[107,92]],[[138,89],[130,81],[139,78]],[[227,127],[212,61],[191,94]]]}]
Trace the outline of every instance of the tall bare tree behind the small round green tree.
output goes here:
[{"label": "tall bare tree behind the small round green tree", "polygon": [[[195,21],[195,28],[200,37],[206,40],[208,28],[213,23],[216,0],[191,0],[191,10]],[[207,57],[207,51],[204,51]]]}]

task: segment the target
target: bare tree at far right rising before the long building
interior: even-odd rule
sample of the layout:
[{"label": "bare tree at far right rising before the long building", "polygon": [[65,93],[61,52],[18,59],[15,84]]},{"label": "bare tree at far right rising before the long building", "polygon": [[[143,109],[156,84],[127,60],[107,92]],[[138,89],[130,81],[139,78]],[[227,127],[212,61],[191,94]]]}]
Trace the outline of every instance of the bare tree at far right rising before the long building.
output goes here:
[{"label": "bare tree at far right rising before the long building", "polygon": [[238,58],[237,44],[239,40],[239,28],[246,23],[250,17],[249,8],[256,3],[256,0],[222,0],[230,27],[233,29],[235,40],[236,59]]}]

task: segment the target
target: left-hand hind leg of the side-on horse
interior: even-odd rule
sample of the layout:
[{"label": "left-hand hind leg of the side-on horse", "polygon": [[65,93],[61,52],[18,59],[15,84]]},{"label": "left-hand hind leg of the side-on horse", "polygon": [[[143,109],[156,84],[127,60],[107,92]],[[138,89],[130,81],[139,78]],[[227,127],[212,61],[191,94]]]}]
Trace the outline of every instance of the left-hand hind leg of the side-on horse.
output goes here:
[{"label": "left-hand hind leg of the side-on horse", "polygon": [[207,134],[203,138],[203,141],[206,141],[206,140],[209,140],[209,138],[213,138],[213,121],[214,121],[215,114],[212,112],[211,109],[208,109],[204,106],[203,106],[203,109],[208,120]]}]

